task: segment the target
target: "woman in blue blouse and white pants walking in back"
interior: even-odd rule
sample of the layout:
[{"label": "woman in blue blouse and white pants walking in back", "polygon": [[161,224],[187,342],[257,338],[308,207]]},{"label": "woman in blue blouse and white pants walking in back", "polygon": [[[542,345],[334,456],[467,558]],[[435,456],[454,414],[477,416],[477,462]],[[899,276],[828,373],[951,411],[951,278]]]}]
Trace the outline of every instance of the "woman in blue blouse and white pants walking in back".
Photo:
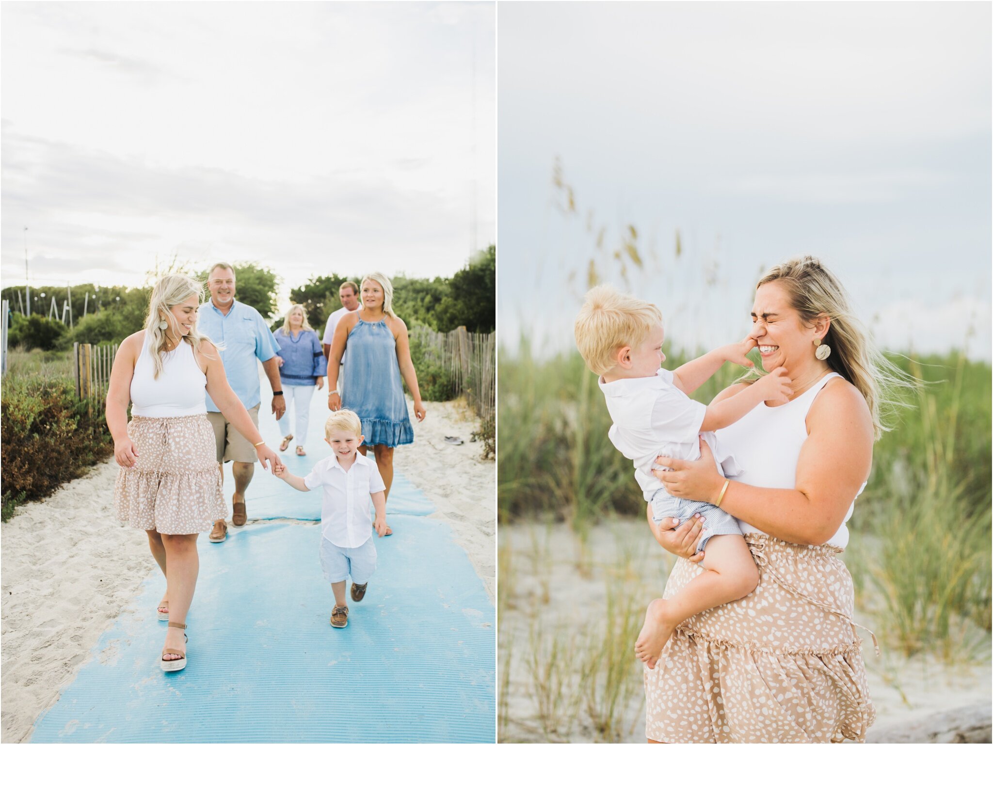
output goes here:
[{"label": "woman in blue blouse and white pants walking in back", "polygon": [[307,322],[304,307],[294,304],[283,318],[283,326],[275,332],[279,342],[279,376],[283,381],[286,412],[279,420],[283,443],[279,451],[285,452],[293,440],[290,432],[290,406],[296,414],[297,455],[303,457],[307,440],[307,422],[310,419],[311,397],[314,388],[324,388],[325,357],[321,339]]}]

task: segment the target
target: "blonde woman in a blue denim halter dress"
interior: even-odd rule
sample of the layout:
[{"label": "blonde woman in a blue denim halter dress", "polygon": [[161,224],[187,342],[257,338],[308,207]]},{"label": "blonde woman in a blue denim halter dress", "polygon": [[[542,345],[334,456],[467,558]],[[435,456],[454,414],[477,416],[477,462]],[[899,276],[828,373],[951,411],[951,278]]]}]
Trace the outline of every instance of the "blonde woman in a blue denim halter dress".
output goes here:
[{"label": "blonde woman in a blue denim halter dress", "polygon": [[[426,411],[410,359],[407,326],[393,313],[393,285],[382,273],[369,273],[361,283],[362,307],[338,323],[328,357],[328,407],[355,411],[365,441],[361,454],[371,448],[386,498],[393,483],[393,450],[414,442],[403,383],[414,397],[414,415],[424,421]],[[342,355],[349,350],[349,376],[344,393],[338,392]],[[402,378],[402,379],[401,379]],[[386,534],[392,534],[387,528]]]}]

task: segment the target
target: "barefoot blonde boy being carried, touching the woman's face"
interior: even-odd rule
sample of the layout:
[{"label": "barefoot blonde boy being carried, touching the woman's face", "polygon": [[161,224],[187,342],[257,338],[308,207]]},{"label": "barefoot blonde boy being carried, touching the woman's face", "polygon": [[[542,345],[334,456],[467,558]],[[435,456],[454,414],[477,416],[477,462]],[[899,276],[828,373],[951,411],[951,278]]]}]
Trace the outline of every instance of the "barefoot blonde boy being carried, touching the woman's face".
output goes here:
[{"label": "barefoot blonde boy being carried, touching the woman's face", "polygon": [[[674,597],[656,598],[648,604],[644,625],[635,644],[638,659],[654,669],[662,648],[676,626],[693,614],[737,600],[759,584],[759,572],[745,543],[738,521],[717,504],[687,501],[670,496],[652,469],[655,458],[700,458],[702,435],[724,475],[741,471],[725,455],[713,431],[733,424],[766,401],[781,401],[790,393],[785,369],[777,369],[739,394],[716,405],[694,402],[695,391],[725,361],[753,366],[746,353],[755,346],[748,337],[736,344],[711,350],[674,371],[661,368],[665,360],[662,315],[650,303],[623,295],[602,284],[591,289],[576,319],[576,346],[590,369],[599,375],[614,426],[611,443],[635,463],[635,477],[657,522],[675,518],[674,525],[701,516],[704,529],[697,552],[707,548],[700,566],[703,573]],[[723,492],[721,493],[723,496]]]}]

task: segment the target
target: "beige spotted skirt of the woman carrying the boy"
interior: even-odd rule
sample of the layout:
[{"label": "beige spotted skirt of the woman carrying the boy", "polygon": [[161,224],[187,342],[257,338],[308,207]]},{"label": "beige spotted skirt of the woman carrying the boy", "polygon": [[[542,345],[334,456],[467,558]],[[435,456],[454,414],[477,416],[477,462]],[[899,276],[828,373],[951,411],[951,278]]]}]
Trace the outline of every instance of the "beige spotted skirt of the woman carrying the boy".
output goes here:
[{"label": "beige spotted skirt of the woman carrying the boy", "polygon": [[[655,668],[644,668],[645,735],[665,743],[864,740],[876,711],[839,549],[745,539],[759,586],[683,622]],[[664,596],[700,572],[680,559]]]}]

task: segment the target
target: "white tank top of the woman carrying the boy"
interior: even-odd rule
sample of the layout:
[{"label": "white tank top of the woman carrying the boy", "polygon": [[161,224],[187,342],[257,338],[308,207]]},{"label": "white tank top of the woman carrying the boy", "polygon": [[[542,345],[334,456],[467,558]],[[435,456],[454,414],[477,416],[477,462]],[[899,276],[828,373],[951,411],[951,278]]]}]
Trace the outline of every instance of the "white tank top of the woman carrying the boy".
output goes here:
[{"label": "white tank top of the woman carrying the boy", "polygon": [[[828,380],[840,376],[837,372],[828,372],[805,393],[776,408],[760,402],[744,418],[730,427],[718,430],[717,437],[722,447],[735,456],[743,471],[738,476],[728,478],[757,487],[794,488],[796,463],[800,458],[800,448],[807,439],[807,412],[814,397],[827,385]],[[864,488],[865,482],[859,488],[859,493]],[[838,548],[848,545],[846,523],[854,509],[855,501],[852,501],[841,527],[827,541],[830,545]],[[742,531],[765,534],[744,520],[738,522]]]}]

